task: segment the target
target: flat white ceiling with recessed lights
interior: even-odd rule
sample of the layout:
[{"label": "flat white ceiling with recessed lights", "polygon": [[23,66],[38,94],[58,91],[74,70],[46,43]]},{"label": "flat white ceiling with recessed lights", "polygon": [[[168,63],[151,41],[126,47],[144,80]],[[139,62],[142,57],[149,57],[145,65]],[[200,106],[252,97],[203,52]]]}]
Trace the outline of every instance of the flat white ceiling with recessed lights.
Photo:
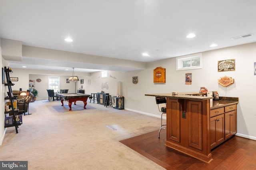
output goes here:
[{"label": "flat white ceiling with recessed lights", "polygon": [[[255,20],[256,0],[0,0],[2,38],[141,62],[256,42]],[[186,38],[189,33],[196,37]],[[247,33],[253,36],[230,39]]]}]

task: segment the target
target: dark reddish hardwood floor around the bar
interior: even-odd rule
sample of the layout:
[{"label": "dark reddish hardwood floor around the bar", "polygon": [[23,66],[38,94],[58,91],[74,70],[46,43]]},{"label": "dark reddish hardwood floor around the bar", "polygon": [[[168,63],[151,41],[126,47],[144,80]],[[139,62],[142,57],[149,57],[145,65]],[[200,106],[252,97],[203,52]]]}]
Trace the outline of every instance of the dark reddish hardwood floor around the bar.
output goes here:
[{"label": "dark reddish hardwood floor around the bar", "polygon": [[212,162],[196,158],[165,146],[166,131],[146,133],[120,141],[168,170],[256,170],[256,141],[234,136],[212,150]]}]

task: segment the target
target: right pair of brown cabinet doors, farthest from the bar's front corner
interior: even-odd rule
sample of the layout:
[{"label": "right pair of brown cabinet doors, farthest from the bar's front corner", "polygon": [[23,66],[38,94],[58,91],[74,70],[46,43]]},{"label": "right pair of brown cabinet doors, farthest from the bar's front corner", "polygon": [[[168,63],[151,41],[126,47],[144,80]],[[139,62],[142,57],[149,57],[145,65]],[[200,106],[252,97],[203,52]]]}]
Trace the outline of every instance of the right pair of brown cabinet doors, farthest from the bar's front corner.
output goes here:
[{"label": "right pair of brown cabinet doors, farthest from the bar's front corner", "polygon": [[225,139],[236,134],[236,110],[225,113]]}]

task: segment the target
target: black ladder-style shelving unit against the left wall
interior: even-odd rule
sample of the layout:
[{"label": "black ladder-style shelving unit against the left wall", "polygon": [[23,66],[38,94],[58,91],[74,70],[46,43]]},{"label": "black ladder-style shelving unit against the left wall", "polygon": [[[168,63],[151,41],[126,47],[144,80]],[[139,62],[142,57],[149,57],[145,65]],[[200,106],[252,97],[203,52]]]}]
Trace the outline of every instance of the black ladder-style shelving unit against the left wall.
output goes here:
[{"label": "black ladder-style shelving unit against the left wall", "polygon": [[[4,111],[4,114],[9,114],[10,117],[12,117],[12,122],[14,122],[14,124],[11,125],[4,125],[4,127],[13,127],[15,126],[16,129],[16,133],[18,133],[18,126],[21,125],[20,123],[17,123],[16,121],[16,116],[19,116],[18,113],[18,109],[14,110],[14,106],[13,106],[13,102],[14,100],[17,99],[17,96],[13,96],[12,93],[12,86],[14,86],[14,84],[12,84],[12,81],[10,80],[10,72],[12,72],[12,69],[10,67],[4,67],[4,72],[6,75],[6,84],[4,84],[5,86],[8,86],[8,96],[4,98],[4,100],[10,100],[10,111]],[[8,106],[9,107],[9,106]]]}]

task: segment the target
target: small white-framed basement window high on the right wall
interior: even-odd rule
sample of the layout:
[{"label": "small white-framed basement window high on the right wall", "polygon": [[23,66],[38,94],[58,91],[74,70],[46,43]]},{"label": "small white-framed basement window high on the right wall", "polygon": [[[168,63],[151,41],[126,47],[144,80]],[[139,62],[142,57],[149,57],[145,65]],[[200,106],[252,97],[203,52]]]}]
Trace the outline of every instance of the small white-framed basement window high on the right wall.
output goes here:
[{"label": "small white-framed basement window high on the right wall", "polygon": [[176,70],[192,70],[202,68],[202,53],[176,57]]}]

